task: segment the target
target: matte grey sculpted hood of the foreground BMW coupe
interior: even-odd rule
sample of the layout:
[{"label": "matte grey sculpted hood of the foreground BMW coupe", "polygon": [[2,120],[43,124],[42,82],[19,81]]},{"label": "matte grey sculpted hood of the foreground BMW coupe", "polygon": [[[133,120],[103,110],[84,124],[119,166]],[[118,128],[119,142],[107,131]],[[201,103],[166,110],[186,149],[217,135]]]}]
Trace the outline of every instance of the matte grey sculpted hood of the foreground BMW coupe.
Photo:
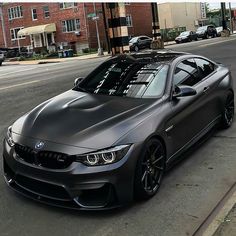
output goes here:
[{"label": "matte grey sculpted hood of the foreground BMW coupe", "polygon": [[109,147],[144,119],[152,100],[70,90],[19,118],[12,132],[77,147]]}]

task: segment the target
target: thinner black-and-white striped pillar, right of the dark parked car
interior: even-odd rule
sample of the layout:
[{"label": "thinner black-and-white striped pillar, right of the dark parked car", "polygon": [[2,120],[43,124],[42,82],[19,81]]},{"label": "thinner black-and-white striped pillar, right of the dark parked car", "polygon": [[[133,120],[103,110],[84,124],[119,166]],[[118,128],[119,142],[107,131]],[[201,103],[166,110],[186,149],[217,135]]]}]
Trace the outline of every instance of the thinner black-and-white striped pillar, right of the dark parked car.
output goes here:
[{"label": "thinner black-and-white striped pillar, right of the dark parked car", "polygon": [[153,35],[153,42],[151,44],[151,48],[161,49],[161,48],[164,48],[164,43],[163,43],[161,33],[160,33],[157,3],[152,2],[151,7],[152,7],[152,35]]}]

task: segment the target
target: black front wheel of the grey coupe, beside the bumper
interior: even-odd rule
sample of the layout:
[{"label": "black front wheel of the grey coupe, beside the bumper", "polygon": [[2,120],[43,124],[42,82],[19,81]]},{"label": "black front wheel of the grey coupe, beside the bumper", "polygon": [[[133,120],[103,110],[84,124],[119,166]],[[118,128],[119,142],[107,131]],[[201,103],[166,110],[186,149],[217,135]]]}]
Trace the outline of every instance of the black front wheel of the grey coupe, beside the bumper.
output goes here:
[{"label": "black front wheel of the grey coupe, beside the bumper", "polygon": [[165,148],[158,139],[150,139],[138,159],[134,178],[134,196],[138,200],[153,197],[165,171]]}]

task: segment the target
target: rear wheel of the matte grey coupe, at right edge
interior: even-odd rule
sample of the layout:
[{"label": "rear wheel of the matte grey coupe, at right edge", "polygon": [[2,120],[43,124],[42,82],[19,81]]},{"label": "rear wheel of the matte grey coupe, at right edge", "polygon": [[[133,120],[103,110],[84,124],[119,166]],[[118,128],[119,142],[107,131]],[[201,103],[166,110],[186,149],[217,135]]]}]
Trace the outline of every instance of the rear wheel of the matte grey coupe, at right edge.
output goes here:
[{"label": "rear wheel of the matte grey coupe, at right edge", "polygon": [[225,105],[224,111],[222,112],[222,120],[221,120],[221,128],[227,129],[229,128],[234,119],[234,94],[233,92],[229,92]]}]

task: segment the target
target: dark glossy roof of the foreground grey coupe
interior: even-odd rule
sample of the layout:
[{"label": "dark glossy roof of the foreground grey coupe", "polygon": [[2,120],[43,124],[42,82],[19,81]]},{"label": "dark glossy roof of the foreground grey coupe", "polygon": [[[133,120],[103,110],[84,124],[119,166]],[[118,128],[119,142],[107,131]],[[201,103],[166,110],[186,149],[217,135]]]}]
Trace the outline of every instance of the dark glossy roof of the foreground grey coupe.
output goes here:
[{"label": "dark glossy roof of the foreground grey coupe", "polygon": [[186,52],[177,52],[172,50],[146,50],[138,53],[122,54],[111,58],[110,60],[129,60],[133,62],[149,63],[170,63],[180,56],[189,55]]}]

